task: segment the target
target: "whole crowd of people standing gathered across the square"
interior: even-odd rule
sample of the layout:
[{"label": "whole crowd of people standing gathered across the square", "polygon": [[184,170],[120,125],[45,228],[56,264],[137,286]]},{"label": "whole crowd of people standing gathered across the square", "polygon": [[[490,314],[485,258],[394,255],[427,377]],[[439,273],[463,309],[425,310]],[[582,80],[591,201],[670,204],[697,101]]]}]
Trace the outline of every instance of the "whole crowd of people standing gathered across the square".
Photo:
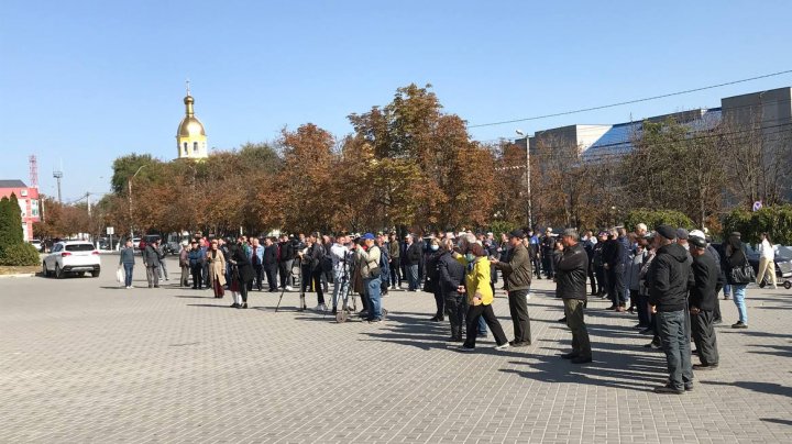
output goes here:
[{"label": "whole crowd of people standing gathered across the square", "polygon": [[[572,229],[554,234],[548,227],[543,235],[515,230],[499,241],[493,233],[471,231],[426,237],[407,234],[403,238],[396,233],[311,233],[263,240],[199,236],[183,242],[178,262],[179,286],[210,288],[216,298],[230,291],[232,308],[246,309],[250,292],[264,291],[265,284],[266,290],[282,296],[299,285],[299,310],[308,309],[306,293],[316,292],[315,311],[352,313],[355,299],[351,297],[356,293],[362,302],[359,314],[370,323],[383,321],[382,297],[402,290],[406,280],[406,291],[433,295],[437,310],[430,320],[444,322],[448,318],[449,341],[461,343],[459,349],[464,352],[474,351],[476,338],[486,336],[488,330],[496,349],[530,345],[531,280],[552,279],[556,296],[563,301],[560,321],[572,333],[572,349],[563,358],[574,364],[592,362],[584,312],[590,298],[607,298],[607,310],[637,314],[636,328],[653,334],[647,347],[664,351],[669,382],[656,391],[684,393],[692,389],[693,369],[718,367],[714,325],[723,322],[719,292],[737,307],[739,319],[732,328],[747,329],[748,284],[769,275],[776,288],[767,234],[760,255],[759,276],[755,276],[739,233],[715,244],[700,230],[659,225],[649,232],[638,224],[629,233],[615,227],[596,235],[587,231],[582,236]],[[143,251],[150,288],[158,287],[163,276],[167,280],[163,257],[158,242]],[[132,288],[131,242],[121,251],[119,267],[125,275],[122,285]],[[498,275],[508,299],[512,341],[493,310]],[[691,340],[695,351],[691,351]],[[700,364],[691,364],[693,354],[698,355]]]}]

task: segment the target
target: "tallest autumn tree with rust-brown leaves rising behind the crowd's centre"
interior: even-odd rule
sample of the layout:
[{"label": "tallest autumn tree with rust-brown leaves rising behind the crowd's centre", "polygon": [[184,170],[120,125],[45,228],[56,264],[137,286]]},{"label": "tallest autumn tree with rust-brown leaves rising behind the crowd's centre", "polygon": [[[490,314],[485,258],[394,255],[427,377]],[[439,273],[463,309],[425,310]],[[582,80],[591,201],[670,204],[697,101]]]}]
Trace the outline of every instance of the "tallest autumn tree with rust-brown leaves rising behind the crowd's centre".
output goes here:
[{"label": "tallest autumn tree with rust-brown leaves rising behind the crowd's centre", "polygon": [[430,88],[399,88],[387,106],[349,116],[356,143],[371,146],[372,206],[387,226],[483,225],[495,206],[494,157]]}]

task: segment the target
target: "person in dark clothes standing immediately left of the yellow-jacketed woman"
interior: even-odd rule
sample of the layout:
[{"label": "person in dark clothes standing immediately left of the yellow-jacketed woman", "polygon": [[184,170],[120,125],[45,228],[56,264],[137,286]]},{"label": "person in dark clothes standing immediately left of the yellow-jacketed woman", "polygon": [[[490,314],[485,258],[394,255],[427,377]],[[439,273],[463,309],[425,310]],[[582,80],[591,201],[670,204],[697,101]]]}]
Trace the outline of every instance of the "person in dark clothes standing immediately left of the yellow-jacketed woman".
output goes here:
[{"label": "person in dark clothes standing immediately left of the yellow-jacketed woman", "polygon": [[447,238],[442,245],[443,253],[438,259],[438,276],[440,280],[440,293],[443,297],[446,313],[451,321],[451,342],[462,342],[462,328],[464,315],[468,311],[468,297],[464,291],[465,269],[464,265],[457,260],[452,240]]}]

